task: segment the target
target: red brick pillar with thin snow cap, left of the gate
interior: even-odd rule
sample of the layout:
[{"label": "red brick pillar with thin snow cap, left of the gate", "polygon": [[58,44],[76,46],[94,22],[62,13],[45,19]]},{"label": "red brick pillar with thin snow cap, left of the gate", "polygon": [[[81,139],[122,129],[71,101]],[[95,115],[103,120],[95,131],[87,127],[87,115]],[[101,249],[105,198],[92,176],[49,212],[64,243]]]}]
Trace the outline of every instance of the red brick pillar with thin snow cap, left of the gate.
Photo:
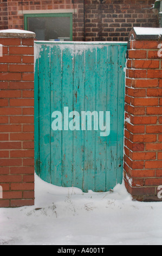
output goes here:
[{"label": "red brick pillar with thin snow cap, left of the gate", "polygon": [[34,38],[0,31],[0,207],[34,205]]}]

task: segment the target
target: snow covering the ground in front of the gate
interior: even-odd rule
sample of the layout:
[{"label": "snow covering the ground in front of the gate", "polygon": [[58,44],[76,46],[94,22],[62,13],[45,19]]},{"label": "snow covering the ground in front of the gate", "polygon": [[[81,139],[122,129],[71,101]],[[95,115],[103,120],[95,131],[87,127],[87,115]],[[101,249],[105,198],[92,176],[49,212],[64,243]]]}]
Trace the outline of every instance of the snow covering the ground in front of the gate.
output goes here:
[{"label": "snow covering the ground in front of the gate", "polygon": [[162,202],[133,202],[124,184],[83,193],[35,176],[35,197],[0,209],[0,245],[162,245]]}]

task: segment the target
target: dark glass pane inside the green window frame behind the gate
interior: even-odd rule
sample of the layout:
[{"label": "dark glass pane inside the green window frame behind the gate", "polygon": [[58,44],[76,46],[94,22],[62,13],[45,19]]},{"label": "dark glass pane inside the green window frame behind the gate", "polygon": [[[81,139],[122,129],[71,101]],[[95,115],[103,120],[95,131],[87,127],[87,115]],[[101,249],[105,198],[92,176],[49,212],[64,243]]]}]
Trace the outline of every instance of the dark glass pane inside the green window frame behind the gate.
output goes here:
[{"label": "dark glass pane inside the green window frame behind the gate", "polygon": [[70,41],[70,17],[28,17],[27,21],[37,40]]}]

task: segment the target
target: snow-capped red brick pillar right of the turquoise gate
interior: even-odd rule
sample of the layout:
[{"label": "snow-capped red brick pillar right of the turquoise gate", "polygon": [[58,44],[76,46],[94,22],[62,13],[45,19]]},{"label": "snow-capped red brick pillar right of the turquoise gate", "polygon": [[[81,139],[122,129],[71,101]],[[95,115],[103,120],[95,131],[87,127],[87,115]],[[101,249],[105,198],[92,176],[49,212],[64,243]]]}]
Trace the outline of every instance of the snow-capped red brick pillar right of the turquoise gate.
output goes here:
[{"label": "snow-capped red brick pillar right of the turquoise gate", "polygon": [[134,28],[127,52],[124,178],[128,192],[141,201],[162,200],[160,34],[160,28]]}]

